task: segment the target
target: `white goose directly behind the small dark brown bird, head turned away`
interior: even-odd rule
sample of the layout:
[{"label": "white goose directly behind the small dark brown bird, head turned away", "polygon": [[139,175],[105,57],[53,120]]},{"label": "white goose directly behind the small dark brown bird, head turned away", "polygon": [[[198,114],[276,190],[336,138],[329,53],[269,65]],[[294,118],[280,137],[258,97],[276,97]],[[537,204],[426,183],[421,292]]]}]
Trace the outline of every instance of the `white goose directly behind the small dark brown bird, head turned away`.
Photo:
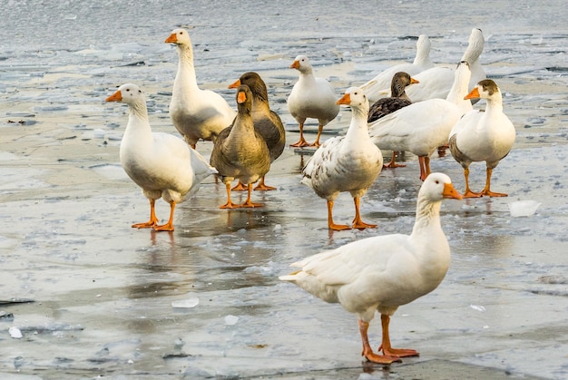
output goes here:
[{"label": "white goose directly behind the small dark brown bird, head turned away", "polygon": [[[363,84],[361,89],[367,93],[369,102],[377,102],[380,98],[390,96],[388,92],[395,73],[405,72],[408,73],[408,75],[414,76],[417,73],[434,67],[434,63],[430,60],[430,46],[428,36],[426,34],[420,34],[418,41],[416,41],[416,56],[412,63],[395,64]],[[409,96],[409,98],[412,102],[415,102],[412,97]]]}]

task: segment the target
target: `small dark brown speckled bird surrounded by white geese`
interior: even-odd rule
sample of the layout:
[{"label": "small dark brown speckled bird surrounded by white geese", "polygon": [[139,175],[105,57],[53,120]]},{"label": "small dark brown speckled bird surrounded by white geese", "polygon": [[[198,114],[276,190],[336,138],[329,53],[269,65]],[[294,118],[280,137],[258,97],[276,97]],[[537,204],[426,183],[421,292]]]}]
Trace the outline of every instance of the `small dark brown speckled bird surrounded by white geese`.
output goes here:
[{"label": "small dark brown speckled bird surrounded by white geese", "polygon": [[[406,95],[406,87],[410,84],[418,83],[416,79],[412,78],[408,73],[398,72],[393,75],[393,80],[390,83],[390,97],[381,98],[371,105],[368,111],[367,122],[375,122],[383,116],[400,110],[402,107],[412,104]],[[390,162],[385,165],[385,168],[402,168],[406,165],[398,164],[395,160],[397,158],[397,151],[393,151],[393,156]]]}]

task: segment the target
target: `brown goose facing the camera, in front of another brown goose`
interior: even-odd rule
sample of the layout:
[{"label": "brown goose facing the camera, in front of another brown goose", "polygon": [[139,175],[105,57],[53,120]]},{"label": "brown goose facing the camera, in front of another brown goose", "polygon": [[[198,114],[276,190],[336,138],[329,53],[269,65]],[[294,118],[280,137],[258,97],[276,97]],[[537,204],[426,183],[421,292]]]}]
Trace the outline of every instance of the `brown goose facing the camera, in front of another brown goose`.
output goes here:
[{"label": "brown goose facing the camera, in front of another brown goose", "polygon": [[[237,91],[237,117],[230,127],[220,132],[211,151],[211,166],[227,187],[227,203],[221,209],[260,207],[250,201],[252,184],[270,169],[269,148],[266,141],[254,129],[252,122],[252,93],[247,85],[240,85]],[[248,185],[247,200],[236,205],[230,200],[230,181],[238,179]]]}]

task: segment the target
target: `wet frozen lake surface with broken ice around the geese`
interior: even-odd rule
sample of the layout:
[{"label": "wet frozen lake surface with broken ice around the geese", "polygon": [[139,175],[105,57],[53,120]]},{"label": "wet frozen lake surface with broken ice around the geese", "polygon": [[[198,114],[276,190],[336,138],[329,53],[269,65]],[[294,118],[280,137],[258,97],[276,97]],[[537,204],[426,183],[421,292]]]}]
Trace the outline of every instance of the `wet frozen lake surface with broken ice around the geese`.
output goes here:
[{"label": "wet frozen lake surface with broken ice around the geese", "polygon": [[[0,0],[0,301],[18,301],[0,304],[0,377],[568,377],[564,0],[53,3]],[[177,54],[163,41],[179,26],[190,31],[201,87],[231,105],[227,86],[260,73],[288,142],[298,138],[286,106],[296,55],[308,55],[339,97],[411,61],[419,34],[435,63],[455,64],[471,29],[483,30],[481,62],[517,130],[492,181],[509,197],[444,203],[448,274],[391,323],[393,344],[420,357],[363,363],[356,316],[278,279],[321,250],[409,233],[420,186],[409,153],[406,168],[383,171],[361,202],[377,229],[329,232],[325,200],[299,183],[308,156],[289,148],[267,176],[278,190],[254,194],[261,209],[219,209],[225,190],[209,178],[178,207],[173,233],[130,227],[148,202],[118,158],[126,107],[104,99],[137,83],[154,131],[174,133]],[[323,139],[349,120],[343,108]],[[208,156],[211,143],[198,151]],[[464,189],[449,153],[431,166]],[[485,165],[472,165],[470,179],[480,189]],[[516,217],[519,201],[540,206]],[[159,217],[168,210],[157,203]],[[348,194],[335,214],[353,218]],[[378,344],[377,318],[370,338]]]}]

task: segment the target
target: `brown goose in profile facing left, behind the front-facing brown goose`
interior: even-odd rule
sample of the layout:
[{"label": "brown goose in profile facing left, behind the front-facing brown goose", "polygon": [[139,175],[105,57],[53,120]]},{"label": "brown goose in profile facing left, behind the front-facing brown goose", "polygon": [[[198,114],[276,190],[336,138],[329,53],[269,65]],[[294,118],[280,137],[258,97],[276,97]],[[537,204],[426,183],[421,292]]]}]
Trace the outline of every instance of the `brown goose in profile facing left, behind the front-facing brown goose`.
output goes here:
[{"label": "brown goose in profile facing left, behind the front-facing brown goose", "polygon": [[[229,88],[238,88],[241,84],[246,84],[252,93],[252,122],[254,129],[260,133],[260,136],[266,141],[269,148],[270,163],[280,157],[284,146],[286,145],[286,130],[280,120],[278,113],[270,110],[269,93],[266,84],[260,78],[258,73],[243,73],[237,82],[232,83]],[[238,186],[242,186],[241,188]],[[246,190],[239,183],[233,190]],[[276,190],[276,188],[267,186],[264,183],[264,176],[260,178],[260,183],[254,190]]]}]

